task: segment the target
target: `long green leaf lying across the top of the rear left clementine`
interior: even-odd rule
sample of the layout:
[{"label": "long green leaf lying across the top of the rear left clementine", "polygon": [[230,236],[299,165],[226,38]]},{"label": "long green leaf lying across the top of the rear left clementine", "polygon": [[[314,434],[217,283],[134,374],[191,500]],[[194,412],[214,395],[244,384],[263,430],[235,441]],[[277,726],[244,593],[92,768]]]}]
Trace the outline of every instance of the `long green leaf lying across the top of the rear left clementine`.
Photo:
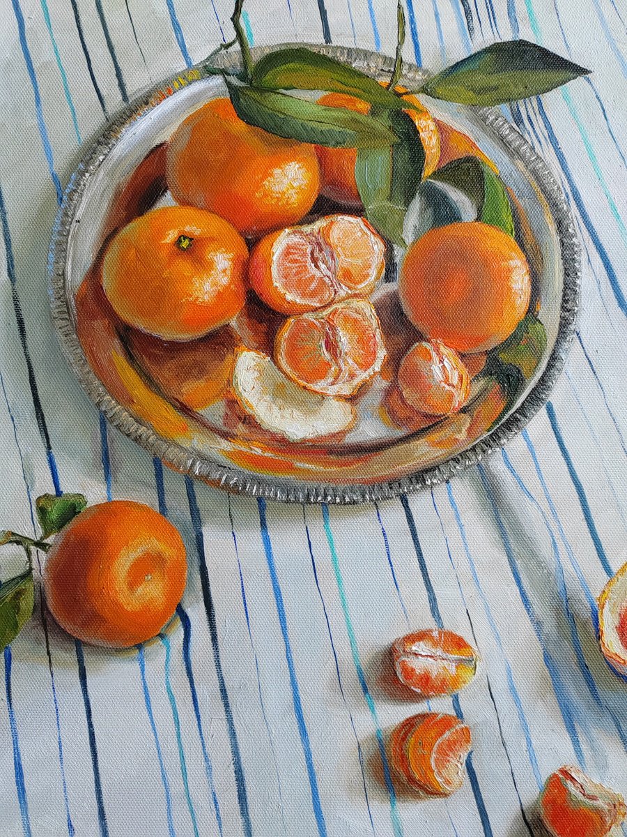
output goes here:
[{"label": "long green leaf lying across the top of the rear left clementine", "polygon": [[396,141],[392,131],[372,116],[235,85],[228,79],[225,83],[237,116],[271,134],[332,148],[371,148]]}]

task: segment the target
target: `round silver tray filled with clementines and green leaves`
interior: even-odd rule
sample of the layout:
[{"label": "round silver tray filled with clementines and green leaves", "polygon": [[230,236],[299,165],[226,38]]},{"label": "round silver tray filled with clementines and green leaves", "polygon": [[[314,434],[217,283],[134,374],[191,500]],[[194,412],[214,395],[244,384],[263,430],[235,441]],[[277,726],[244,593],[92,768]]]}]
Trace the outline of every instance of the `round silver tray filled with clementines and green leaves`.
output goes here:
[{"label": "round silver tray filled with clementines and green leaves", "polygon": [[548,397],[579,247],[492,105],[586,70],[512,41],[428,75],[358,49],[218,49],[69,183],[53,318],[89,397],[186,474],[291,501],[447,479]]}]

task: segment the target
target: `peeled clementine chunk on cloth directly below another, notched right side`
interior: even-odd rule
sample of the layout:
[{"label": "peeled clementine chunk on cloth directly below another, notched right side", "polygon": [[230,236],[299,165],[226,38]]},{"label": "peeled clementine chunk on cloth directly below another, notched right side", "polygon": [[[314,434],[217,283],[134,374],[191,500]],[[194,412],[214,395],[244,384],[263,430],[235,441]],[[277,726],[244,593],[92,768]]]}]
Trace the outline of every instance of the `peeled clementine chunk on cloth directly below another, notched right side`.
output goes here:
[{"label": "peeled clementine chunk on cloth directly below another, notched right side", "polygon": [[390,764],[415,790],[449,796],[461,788],[471,731],[454,715],[412,715],[390,736]]}]

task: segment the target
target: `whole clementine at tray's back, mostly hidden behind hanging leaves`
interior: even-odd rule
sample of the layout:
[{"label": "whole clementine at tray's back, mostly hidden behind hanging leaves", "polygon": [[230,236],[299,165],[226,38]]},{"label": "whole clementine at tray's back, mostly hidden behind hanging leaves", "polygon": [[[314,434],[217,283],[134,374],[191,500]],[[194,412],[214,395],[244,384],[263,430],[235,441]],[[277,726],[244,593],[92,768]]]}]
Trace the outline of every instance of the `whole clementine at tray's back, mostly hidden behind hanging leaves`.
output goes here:
[{"label": "whole clementine at tray's back, mostly hidden behind hanging leaves", "polygon": [[[403,92],[404,88],[396,88]],[[428,110],[423,107],[415,96],[404,96],[408,102],[415,105],[419,110],[405,110],[414,122],[418,133],[421,136],[422,145],[425,148],[425,167],[423,176],[429,177],[437,165],[440,157],[440,137],[438,135],[436,121]],[[348,110],[357,110],[359,113],[370,113],[370,103],[356,96],[345,93],[325,93],[319,98],[320,105],[328,107],[344,107]],[[354,167],[357,160],[357,151],[354,148],[327,148],[316,146],[320,162],[320,191],[327,198],[344,203],[347,206],[361,206],[361,198],[357,189],[357,182],[354,177]]]}]

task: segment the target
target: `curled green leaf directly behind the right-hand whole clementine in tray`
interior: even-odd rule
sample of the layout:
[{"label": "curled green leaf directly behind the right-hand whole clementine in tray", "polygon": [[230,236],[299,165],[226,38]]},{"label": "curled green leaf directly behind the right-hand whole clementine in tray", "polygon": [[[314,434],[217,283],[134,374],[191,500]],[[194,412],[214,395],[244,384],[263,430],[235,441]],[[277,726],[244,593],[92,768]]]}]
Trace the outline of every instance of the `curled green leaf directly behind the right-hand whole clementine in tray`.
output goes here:
[{"label": "curled green leaf directly behind the right-hand whole clementine in tray", "polygon": [[507,189],[496,172],[478,157],[452,160],[429,179],[449,183],[466,193],[477,206],[479,220],[514,237],[514,219]]}]

